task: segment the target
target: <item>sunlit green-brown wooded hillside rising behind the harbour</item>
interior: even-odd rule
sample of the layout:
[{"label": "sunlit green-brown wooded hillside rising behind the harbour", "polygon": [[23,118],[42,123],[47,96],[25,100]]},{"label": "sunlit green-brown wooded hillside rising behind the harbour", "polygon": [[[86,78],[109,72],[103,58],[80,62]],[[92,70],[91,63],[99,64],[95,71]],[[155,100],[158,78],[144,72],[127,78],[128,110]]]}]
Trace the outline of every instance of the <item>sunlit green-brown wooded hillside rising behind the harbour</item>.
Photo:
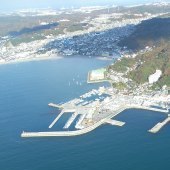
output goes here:
[{"label": "sunlit green-brown wooded hillside rising behind the harbour", "polygon": [[[133,68],[133,69],[132,69]],[[132,69],[130,71],[130,69]],[[125,77],[131,79],[135,84],[148,82],[148,77],[161,70],[162,75],[153,88],[162,88],[164,85],[170,87],[170,43],[161,42],[160,46],[152,51],[139,54],[135,58],[122,58],[114,65],[109,66],[109,70],[125,73]],[[128,71],[129,70],[129,71]],[[128,71],[128,73],[127,73]]]}]

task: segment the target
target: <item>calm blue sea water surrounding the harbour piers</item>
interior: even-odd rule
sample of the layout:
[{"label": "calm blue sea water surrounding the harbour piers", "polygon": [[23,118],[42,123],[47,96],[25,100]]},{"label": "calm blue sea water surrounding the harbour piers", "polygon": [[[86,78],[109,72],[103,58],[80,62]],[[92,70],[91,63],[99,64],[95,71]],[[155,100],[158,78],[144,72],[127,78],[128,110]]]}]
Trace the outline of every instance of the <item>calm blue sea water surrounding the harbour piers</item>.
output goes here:
[{"label": "calm blue sea water surrounding the harbour piers", "polygon": [[47,131],[58,114],[47,104],[97,88],[86,84],[87,72],[107,64],[64,58],[0,65],[0,170],[169,170],[170,126],[147,132],[165,118],[158,112],[127,110],[117,116],[124,127],[103,125],[77,137],[20,138],[23,130]]}]

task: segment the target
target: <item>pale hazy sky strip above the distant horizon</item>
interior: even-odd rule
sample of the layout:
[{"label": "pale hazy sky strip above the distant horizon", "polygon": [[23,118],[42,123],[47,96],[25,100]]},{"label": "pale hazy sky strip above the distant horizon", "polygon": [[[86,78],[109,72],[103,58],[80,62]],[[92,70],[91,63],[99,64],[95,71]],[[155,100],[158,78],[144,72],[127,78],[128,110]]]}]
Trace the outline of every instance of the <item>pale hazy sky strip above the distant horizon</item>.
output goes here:
[{"label": "pale hazy sky strip above the distant horizon", "polygon": [[[0,12],[26,8],[71,8],[93,5],[136,5],[161,0],[0,0]],[[170,2],[170,0],[165,0]]]}]

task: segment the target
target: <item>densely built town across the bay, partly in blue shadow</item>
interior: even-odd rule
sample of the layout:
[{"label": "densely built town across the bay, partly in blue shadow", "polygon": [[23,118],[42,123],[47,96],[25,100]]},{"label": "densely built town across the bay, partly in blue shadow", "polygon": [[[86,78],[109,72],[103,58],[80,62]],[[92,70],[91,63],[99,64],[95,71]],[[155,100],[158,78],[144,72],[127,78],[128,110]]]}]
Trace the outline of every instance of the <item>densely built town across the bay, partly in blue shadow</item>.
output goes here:
[{"label": "densely built town across the bay, partly in blue shadow", "polygon": [[[135,7],[134,7],[135,8]],[[134,8],[132,8],[134,10]],[[131,10],[131,7],[127,8]],[[35,11],[20,11],[16,14],[20,17],[26,17],[30,15],[31,17],[41,16],[41,18],[47,14],[53,17],[63,18],[60,20],[51,20],[51,22],[46,22],[41,20],[38,21],[39,24],[35,28],[40,29],[39,32],[35,32],[35,35],[28,34],[30,39],[25,42],[25,38],[22,38],[21,33],[16,32],[17,36],[12,33],[13,36],[6,35],[0,37],[0,63],[9,63],[16,61],[27,61],[35,59],[48,59],[57,58],[61,56],[71,56],[71,55],[83,55],[83,56],[97,56],[97,57],[114,57],[115,52],[121,53],[120,47],[117,43],[124,37],[129,36],[134,30],[135,26],[144,20],[155,18],[166,14],[163,12],[119,12],[119,8],[107,8],[101,7],[96,8],[83,8],[83,10],[72,10],[72,11],[59,11],[54,12],[49,9],[45,11],[38,10]],[[90,11],[89,11],[90,10]],[[103,14],[100,14],[100,10]],[[116,12],[114,12],[116,11]],[[99,13],[94,14],[93,13]],[[70,24],[70,19],[74,15],[85,15],[81,21],[76,21],[73,23],[75,27],[72,31],[68,28],[72,25]],[[77,23],[79,23],[77,25]],[[50,28],[49,34],[45,34],[43,31],[44,26],[56,25]],[[72,23],[71,23],[72,24]],[[63,28],[60,26],[66,25]],[[75,25],[75,26],[74,26]],[[77,29],[78,27],[78,29]],[[80,27],[80,28],[79,28]],[[42,30],[41,30],[42,29]],[[33,28],[29,28],[34,30]],[[51,32],[50,32],[51,31]],[[61,31],[59,34],[52,34],[54,31]],[[25,33],[25,32],[24,32]],[[18,37],[21,34],[21,38]],[[25,33],[26,34],[26,33]],[[39,37],[39,38],[35,38]],[[27,39],[28,39],[27,38]],[[18,43],[18,41],[20,43]],[[17,44],[15,44],[17,42]],[[123,51],[126,51],[125,49]]]}]

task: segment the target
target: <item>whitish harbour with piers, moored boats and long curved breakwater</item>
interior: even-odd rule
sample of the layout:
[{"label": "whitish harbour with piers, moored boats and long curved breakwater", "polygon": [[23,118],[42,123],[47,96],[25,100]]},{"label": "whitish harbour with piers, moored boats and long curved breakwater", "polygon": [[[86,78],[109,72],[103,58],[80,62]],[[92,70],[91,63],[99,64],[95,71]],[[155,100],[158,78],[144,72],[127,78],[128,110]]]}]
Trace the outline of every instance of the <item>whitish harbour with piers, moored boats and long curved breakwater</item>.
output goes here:
[{"label": "whitish harbour with piers, moored boats and long curved breakwater", "polygon": [[[103,97],[103,95],[105,96]],[[96,96],[95,99],[94,96]],[[93,99],[90,99],[91,97]],[[53,128],[64,113],[72,113],[63,127],[64,130],[23,132],[21,137],[77,136],[88,133],[103,124],[122,127],[125,125],[125,122],[116,120],[116,116],[126,109],[145,109],[164,113],[166,119],[149,130],[151,133],[157,133],[170,122],[169,102],[169,95],[127,95],[115,94],[113,88],[109,87],[102,87],[98,90],[93,89],[80,96],[80,98],[70,100],[64,104],[48,104],[50,107],[61,110],[49,125],[49,129]],[[69,130],[69,127],[75,122],[78,115],[79,119],[75,123],[75,130]]]}]

